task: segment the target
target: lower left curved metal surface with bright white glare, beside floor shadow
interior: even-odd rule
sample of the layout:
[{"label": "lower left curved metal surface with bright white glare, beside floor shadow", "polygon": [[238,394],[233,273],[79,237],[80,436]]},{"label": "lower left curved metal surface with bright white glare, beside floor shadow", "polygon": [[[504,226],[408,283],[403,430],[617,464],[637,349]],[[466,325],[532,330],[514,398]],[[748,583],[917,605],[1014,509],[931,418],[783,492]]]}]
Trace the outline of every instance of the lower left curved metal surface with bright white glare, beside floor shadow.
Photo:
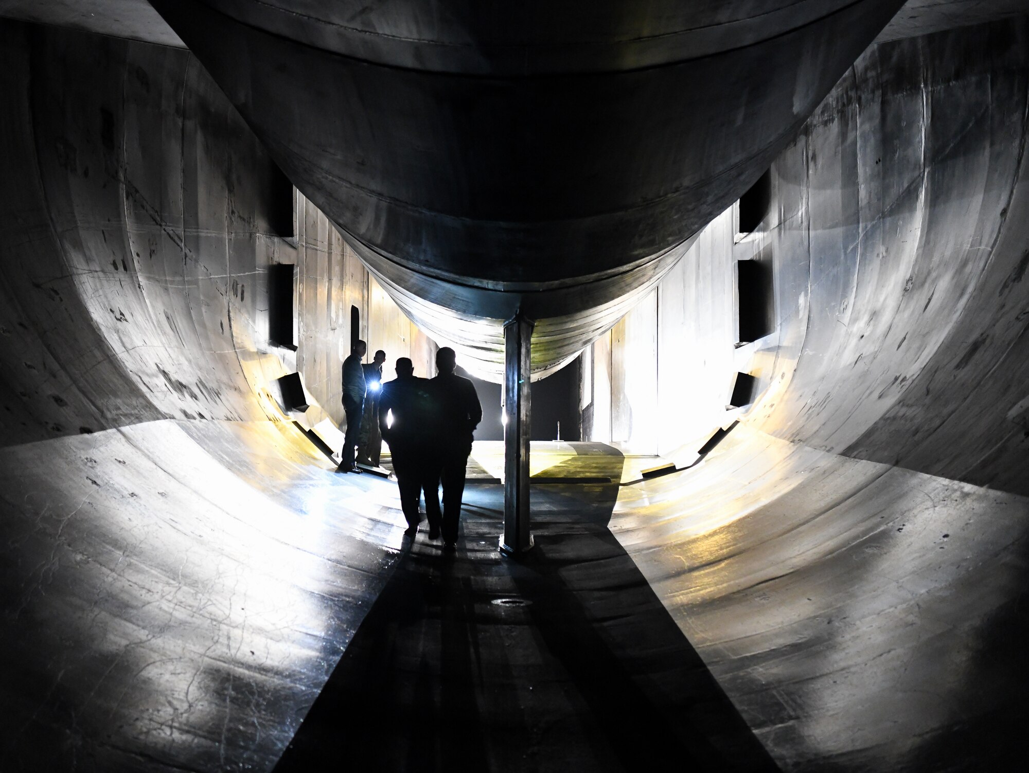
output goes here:
[{"label": "lower left curved metal surface with bright white glare, beside floor shadow", "polygon": [[270,769],[404,528],[271,422],[8,447],[0,489],[5,771]]}]

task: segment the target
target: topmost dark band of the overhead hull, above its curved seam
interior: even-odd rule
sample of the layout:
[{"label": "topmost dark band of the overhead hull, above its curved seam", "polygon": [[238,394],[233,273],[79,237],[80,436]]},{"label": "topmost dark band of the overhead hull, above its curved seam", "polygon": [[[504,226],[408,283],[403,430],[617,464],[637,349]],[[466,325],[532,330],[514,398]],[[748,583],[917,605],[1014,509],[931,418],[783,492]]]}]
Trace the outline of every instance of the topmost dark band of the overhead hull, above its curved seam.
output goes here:
[{"label": "topmost dark band of the overhead hull, above its curved seam", "polygon": [[378,64],[436,72],[611,72],[752,45],[853,0],[637,0],[614,13],[595,0],[525,2],[210,0],[235,20]]}]

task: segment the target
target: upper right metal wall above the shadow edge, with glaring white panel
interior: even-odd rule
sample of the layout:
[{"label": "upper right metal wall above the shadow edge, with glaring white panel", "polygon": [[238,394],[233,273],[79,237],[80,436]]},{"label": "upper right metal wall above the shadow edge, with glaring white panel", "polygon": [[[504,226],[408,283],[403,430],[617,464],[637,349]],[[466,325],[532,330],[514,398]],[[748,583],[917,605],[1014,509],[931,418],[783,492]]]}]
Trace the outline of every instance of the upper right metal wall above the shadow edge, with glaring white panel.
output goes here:
[{"label": "upper right metal wall above the shadow edge, with glaring white panel", "polygon": [[[672,453],[736,417],[739,370],[759,380],[755,428],[1029,493],[1027,35],[870,48],[772,165],[758,229],[737,240],[728,210],[594,346],[592,436]],[[740,259],[773,265],[777,324],[734,349]]]}]

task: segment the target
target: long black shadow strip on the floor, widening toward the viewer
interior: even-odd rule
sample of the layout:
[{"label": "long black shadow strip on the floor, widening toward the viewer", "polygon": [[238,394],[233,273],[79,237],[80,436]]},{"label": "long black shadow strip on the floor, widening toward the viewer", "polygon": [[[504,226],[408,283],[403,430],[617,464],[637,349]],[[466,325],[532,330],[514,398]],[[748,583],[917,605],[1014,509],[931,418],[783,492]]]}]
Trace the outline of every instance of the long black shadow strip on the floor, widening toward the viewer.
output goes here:
[{"label": "long black shadow strip on the floor, widening toward the viewer", "polygon": [[581,458],[613,484],[533,487],[521,563],[500,486],[466,490],[456,556],[420,533],[276,771],[776,770],[608,531],[609,453]]}]

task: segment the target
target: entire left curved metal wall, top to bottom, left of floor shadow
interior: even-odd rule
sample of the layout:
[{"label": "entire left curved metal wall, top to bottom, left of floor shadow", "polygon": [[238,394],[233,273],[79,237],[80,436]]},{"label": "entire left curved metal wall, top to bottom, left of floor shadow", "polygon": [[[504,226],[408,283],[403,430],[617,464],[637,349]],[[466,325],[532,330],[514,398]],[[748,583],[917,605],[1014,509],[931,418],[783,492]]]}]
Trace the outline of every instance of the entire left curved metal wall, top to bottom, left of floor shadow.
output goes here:
[{"label": "entire left curved metal wall, top to bottom, left of floor shadow", "polygon": [[275,233],[281,175],[187,51],[4,20],[0,59],[0,768],[270,767],[400,534],[290,420],[342,413],[351,305],[431,346],[303,197]]}]

